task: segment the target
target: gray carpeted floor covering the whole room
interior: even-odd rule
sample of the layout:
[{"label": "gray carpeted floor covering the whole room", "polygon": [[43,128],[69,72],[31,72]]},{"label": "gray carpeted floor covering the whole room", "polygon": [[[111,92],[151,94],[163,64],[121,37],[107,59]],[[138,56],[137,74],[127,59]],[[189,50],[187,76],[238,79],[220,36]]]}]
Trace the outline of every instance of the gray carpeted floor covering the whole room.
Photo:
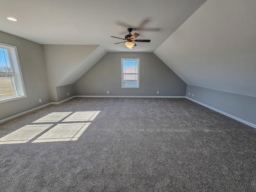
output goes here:
[{"label": "gray carpeted floor covering the whole room", "polygon": [[0,124],[1,192],[255,192],[256,129],[185,98],[74,98]]}]

